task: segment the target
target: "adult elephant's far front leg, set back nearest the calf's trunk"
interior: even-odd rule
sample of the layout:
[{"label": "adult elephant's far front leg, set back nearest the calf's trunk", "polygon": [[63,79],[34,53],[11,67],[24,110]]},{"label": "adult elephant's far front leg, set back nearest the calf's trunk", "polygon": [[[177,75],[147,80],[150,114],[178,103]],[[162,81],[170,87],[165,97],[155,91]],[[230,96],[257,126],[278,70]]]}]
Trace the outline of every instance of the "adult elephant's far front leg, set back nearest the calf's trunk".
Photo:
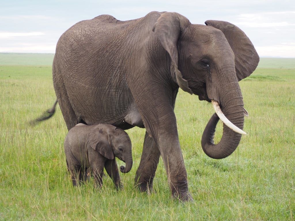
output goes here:
[{"label": "adult elephant's far front leg, set back nearest the calf's trunk", "polygon": [[136,171],[135,185],[144,192],[153,188],[153,179],[159,163],[160,151],[153,138],[145,132],[145,140],[139,167]]}]

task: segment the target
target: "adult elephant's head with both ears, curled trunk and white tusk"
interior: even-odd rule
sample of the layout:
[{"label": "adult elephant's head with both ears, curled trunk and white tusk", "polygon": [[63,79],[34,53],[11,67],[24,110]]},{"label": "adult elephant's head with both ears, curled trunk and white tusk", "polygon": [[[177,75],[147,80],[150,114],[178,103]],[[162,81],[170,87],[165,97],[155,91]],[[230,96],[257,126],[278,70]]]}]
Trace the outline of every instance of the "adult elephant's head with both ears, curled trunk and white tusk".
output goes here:
[{"label": "adult elephant's head with both ears, curled trunk and white tusk", "polygon": [[[246,34],[233,24],[209,20],[191,24],[178,14],[163,13],[153,32],[171,58],[172,78],[184,91],[212,102],[217,113],[209,120],[201,145],[212,158],[221,159],[237,148],[245,134],[244,103],[238,81],[257,67],[259,56]],[[222,139],[214,144],[219,118]]]}]

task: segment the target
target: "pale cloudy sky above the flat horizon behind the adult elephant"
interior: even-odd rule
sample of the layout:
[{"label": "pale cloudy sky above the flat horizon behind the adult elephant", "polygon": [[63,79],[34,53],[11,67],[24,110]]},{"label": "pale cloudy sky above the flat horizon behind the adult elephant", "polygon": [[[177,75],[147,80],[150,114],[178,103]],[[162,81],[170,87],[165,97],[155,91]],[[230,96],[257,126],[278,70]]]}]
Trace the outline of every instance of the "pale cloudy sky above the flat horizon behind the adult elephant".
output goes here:
[{"label": "pale cloudy sky above the flat horizon behind the adult elephant", "polygon": [[63,32],[101,14],[124,21],[150,11],[175,11],[193,24],[221,20],[237,25],[260,57],[295,57],[294,0],[0,0],[0,8],[0,52],[55,53]]}]

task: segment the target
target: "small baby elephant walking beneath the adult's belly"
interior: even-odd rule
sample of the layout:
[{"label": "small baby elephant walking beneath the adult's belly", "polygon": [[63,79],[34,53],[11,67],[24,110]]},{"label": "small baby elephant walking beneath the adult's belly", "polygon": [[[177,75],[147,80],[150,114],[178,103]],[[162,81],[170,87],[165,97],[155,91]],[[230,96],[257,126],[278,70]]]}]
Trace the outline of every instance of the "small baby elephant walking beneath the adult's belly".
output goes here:
[{"label": "small baby elephant walking beneath the adult's belly", "polygon": [[82,181],[86,177],[84,173],[89,168],[93,171],[95,186],[102,186],[105,168],[116,188],[121,188],[114,156],[126,163],[126,168],[120,166],[122,173],[128,173],[132,168],[130,138],[125,131],[110,124],[78,123],[65,137],[64,148],[73,186],[77,186],[77,178]]}]

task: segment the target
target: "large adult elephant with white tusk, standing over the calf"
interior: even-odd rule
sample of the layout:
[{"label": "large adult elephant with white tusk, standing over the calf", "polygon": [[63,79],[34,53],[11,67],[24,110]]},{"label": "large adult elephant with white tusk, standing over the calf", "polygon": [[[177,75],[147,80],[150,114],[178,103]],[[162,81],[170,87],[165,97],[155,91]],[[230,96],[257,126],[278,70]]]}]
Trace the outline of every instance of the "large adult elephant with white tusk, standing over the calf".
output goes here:
[{"label": "large adult elephant with white tusk, standing over the calf", "polygon": [[175,12],[130,21],[101,15],[73,25],[56,46],[53,83],[68,130],[77,123],[146,128],[135,177],[142,191],[152,188],[161,155],[172,195],[191,198],[173,110],[179,87],[212,101],[223,122],[239,132],[224,125],[215,145],[214,114],[201,142],[208,156],[229,156],[245,133],[238,81],[255,70],[259,57],[235,25],[205,24]]}]

